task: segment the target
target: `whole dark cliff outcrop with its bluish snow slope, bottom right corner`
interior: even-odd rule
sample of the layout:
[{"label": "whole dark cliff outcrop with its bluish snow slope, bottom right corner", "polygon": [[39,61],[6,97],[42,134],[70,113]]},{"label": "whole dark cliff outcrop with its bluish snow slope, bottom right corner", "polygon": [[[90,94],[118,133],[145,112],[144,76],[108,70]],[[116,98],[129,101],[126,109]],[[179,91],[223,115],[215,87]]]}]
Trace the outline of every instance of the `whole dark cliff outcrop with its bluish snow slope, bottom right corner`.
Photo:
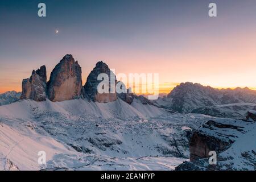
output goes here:
[{"label": "whole dark cliff outcrop with its bluish snow slope, bottom right corner", "polygon": [[[176,170],[255,170],[256,122],[217,118],[189,135],[190,162]],[[250,121],[250,122],[249,122]],[[217,152],[217,164],[209,164],[209,151]]]}]

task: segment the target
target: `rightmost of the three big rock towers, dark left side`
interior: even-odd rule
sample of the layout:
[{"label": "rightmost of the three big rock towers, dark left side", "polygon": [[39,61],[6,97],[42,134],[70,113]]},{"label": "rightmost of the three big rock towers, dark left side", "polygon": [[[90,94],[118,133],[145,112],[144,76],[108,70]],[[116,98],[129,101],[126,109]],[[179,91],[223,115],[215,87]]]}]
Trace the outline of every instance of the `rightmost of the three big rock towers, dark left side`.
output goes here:
[{"label": "rightmost of the three big rock towers, dark left side", "polygon": [[[108,82],[109,82],[109,92],[108,93],[98,93],[98,84],[102,82],[102,80],[98,80],[98,75],[101,73],[105,73],[108,75]],[[111,86],[110,80],[113,77],[113,85]],[[115,92],[115,84],[117,80],[115,78],[115,75],[112,71],[110,71],[108,65],[104,63],[103,61],[99,61],[96,64],[96,67],[93,68],[93,71],[90,72],[86,83],[84,85],[84,97],[87,98],[89,101],[93,102],[112,102],[117,100],[117,94]],[[114,93],[110,92],[111,87],[114,88]]]}]

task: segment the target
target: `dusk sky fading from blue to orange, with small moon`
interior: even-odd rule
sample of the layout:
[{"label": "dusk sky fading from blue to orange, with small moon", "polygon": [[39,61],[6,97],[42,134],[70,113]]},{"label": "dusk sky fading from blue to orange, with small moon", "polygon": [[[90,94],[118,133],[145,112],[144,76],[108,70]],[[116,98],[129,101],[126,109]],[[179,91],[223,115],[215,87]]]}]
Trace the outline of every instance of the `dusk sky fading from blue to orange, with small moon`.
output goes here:
[{"label": "dusk sky fading from blue to orange, with small moon", "polygon": [[49,78],[68,53],[83,84],[104,60],[115,73],[159,73],[163,93],[186,81],[256,89],[254,0],[1,0],[0,24],[0,93],[22,90],[41,65]]}]

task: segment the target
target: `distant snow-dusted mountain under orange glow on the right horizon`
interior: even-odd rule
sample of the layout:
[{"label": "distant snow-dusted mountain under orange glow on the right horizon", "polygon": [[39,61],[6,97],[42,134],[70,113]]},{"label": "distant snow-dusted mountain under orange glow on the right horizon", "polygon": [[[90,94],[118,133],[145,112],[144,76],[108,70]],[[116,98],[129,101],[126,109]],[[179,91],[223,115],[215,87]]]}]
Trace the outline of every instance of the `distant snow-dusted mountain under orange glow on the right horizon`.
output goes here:
[{"label": "distant snow-dusted mountain under orange glow on the right horizon", "polygon": [[249,88],[214,89],[210,86],[181,83],[165,98],[159,98],[159,105],[178,111],[191,113],[205,106],[225,105],[235,103],[256,104],[256,91]]}]

